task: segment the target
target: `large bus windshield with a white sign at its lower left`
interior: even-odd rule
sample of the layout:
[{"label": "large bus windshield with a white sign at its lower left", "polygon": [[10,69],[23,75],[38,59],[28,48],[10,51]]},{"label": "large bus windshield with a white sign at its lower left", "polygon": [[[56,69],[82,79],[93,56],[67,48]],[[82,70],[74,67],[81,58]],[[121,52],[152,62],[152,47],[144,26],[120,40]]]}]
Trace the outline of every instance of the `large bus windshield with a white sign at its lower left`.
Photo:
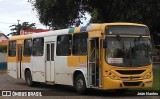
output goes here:
[{"label": "large bus windshield with a white sign at its lower left", "polygon": [[106,37],[106,62],[114,66],[138,67],[151,64],[151,43],[142,37]]}]

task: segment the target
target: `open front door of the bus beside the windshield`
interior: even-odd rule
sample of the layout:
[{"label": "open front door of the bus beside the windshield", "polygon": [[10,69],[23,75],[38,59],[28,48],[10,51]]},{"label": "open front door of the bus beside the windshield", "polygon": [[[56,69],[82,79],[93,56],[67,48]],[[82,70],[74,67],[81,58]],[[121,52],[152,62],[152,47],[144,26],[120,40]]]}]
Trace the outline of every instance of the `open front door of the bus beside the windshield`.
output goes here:
[{"label": "open front door of the bus beside the windshield", "polygon": [[99,38],[88,42],[88,82],[90,86],[99,87]]}]

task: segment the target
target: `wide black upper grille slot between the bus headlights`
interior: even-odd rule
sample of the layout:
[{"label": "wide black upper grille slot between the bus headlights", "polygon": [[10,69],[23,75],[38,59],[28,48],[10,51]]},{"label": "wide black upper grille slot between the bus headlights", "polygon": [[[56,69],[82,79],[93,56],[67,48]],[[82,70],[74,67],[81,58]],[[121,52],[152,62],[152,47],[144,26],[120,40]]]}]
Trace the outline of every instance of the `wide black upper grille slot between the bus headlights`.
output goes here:
[{"label": "wide black upper grille slot between the bus headlights", "polygon": [[142,74],[145,70],[116,70],[116,71],[123,75],[135,75],[135,74]]}]

